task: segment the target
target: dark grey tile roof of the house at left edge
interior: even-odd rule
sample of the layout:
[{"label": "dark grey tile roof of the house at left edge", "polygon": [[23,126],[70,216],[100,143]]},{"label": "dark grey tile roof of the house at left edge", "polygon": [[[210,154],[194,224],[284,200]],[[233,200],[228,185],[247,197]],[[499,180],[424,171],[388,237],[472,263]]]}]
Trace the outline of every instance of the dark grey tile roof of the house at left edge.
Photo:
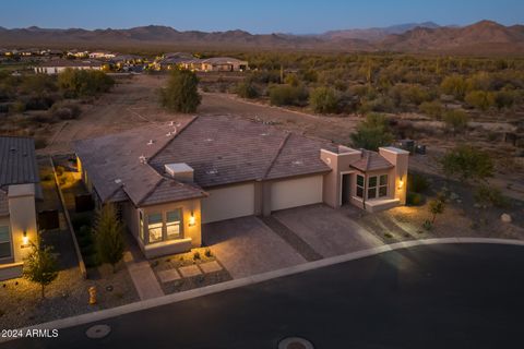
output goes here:
[{"label": "dark grey tile roof of the house at left edge", "polygon": [[0,188],[39,181],[33,139],[0,136]]}]

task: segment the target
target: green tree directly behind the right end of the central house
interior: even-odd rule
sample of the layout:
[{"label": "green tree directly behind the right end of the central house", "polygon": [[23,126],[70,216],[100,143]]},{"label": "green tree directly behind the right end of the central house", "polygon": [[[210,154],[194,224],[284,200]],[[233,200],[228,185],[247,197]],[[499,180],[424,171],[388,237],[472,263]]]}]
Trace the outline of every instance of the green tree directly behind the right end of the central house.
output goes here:
[{"label": "green tree directly behind the right end of the central house", "polygon": [[393,142],[388,120],[380,113],[369,113],[366,120],[357,125],[357,131],[352,134],[355,147],[378,151],[379,147]]}]

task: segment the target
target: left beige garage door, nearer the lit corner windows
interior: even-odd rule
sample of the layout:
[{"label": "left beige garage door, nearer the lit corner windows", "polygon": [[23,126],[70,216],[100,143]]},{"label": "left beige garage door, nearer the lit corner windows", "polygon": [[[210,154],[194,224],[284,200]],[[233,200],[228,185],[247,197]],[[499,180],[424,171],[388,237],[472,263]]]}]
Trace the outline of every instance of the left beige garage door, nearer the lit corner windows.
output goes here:
[{"label": "left beige garage door, nearer the lit corner windows", "polygon": [[212,222],[254,214],[254,184],[212,189],[202,200],[202,222]]}]

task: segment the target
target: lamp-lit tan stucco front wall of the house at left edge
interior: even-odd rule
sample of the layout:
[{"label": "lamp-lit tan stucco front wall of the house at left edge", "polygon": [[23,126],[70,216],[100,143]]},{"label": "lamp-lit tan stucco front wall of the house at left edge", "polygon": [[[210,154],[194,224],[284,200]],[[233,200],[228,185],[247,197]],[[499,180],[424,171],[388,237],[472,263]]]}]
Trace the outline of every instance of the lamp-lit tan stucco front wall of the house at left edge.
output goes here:
[{"label": "lamp-lit tan stucco front wall of the house at left edge", "polygon": [[29,241],[36,242],[37,239],[35,185],[10,185],[8,193],[14,262],[22,262],[31,251],[31,248],[22,246],[24,231]]}]

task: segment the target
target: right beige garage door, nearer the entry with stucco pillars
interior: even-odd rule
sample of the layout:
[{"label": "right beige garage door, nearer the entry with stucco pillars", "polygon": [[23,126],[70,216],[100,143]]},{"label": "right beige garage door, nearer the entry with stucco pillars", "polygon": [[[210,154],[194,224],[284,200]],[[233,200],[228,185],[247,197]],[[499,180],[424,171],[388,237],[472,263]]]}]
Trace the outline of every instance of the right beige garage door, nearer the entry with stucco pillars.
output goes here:
[{"label": "right beige garage door, nearer the entry with stucco pillars", "polygon": [[271,185],[271,209],[284,209],[322,202],[322,176],[274,182]]}]

